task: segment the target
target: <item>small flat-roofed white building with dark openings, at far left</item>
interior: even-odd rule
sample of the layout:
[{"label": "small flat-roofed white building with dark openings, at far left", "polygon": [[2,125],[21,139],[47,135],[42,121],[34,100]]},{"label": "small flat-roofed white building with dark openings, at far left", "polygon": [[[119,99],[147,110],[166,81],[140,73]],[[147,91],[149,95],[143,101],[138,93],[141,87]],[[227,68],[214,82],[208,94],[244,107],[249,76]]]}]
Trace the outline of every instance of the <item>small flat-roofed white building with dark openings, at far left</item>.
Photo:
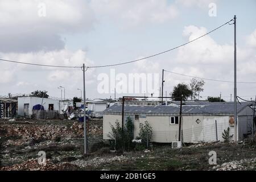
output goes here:
[{"label": "small flat-roofed white building with dark openings, at far left", "polygon": [[32,108],[35,105],[41,105],[43,100],[44,110],[60,110],[60,101],[51,98],[39,97],[18,97],[18,115],[31,117]]}]

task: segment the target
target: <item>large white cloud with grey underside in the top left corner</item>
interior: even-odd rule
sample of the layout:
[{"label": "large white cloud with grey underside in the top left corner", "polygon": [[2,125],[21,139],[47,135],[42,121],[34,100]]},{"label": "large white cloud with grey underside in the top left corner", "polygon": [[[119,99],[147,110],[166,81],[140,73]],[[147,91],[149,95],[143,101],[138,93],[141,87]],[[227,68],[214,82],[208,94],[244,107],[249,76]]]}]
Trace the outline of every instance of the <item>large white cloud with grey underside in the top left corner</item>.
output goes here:
[{"label": "large white cloud with grey underside in the top left corner", "polygon": [[[46,5],[40,17],[38,5]],[[82,0],[0,1],[0,45],[2,52],[63,49],[61,34],[91,30],[94,13]]]}]

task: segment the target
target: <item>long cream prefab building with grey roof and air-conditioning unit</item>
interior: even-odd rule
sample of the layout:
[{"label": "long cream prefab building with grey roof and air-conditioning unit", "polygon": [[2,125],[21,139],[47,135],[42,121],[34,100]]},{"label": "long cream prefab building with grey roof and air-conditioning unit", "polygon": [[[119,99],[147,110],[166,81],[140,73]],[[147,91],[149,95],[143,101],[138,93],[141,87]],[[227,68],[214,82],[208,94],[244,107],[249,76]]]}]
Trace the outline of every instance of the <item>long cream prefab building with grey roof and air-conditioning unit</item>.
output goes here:
[{"label": "long cream prefab building with grey roof and air-conditioning unit", "polygon": [[[183,142],[211,142],[224,140],[222,133],[230,128],[230,136],[234,134],[233,104],[205,103],[204,105],[182,106]],[[124,106],[124,125],[128,116],[133,119],[134,138],[139,134],[139,123],[148,121],[152,127],[151,142],[170,143],[179,140],[180,106]],[[253,109],[248,103],[237,105],[238,124],[237,139],[242,140],[251,133],[253,125]],[[104,111],[103,138],[109,139],[110,124],[122,125],[122,105],[113,105]],[[255,127],[254,127],[255,131]],[[234,137],[232,138],[234,139]]]}]

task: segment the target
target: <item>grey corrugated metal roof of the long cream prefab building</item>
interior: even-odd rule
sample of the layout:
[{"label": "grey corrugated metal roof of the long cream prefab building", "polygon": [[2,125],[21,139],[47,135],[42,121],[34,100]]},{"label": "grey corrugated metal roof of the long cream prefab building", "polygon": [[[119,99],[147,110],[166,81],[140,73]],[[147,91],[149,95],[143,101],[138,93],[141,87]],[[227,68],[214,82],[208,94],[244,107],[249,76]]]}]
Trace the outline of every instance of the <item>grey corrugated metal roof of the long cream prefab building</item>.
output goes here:
[{"label": "grey corrugated metal roof of the long cream prefab building", "polygon": [[[238,113],[248,106],[249,103],[242,102],[237,104]],[[122,105],[115,104],[108,109],[104,110],[104,113],[121,113]],[[172,114],[179,113],[180,106],[150,106],[150,105],[125,105],[125,113],[156,113],[156,114]],[[183,105],[182,113],[233,113],[233,104],[209,104],[209,105]]]}]

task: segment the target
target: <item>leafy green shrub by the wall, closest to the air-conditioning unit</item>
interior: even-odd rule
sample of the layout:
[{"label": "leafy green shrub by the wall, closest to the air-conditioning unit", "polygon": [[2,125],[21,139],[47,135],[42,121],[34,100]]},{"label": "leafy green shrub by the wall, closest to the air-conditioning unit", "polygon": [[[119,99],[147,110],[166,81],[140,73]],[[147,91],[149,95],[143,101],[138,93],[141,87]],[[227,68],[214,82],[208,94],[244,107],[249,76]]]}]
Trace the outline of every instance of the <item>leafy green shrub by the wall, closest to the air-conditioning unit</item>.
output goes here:
[{"label": "leafy green shrub by the wall, closest to the air-conditioning unit", "polygon": [[142,144],[149,147],[150,139],[152,136],[152,127],[149,125],[148,121],[139,123],[139,138],[142,140]]}]

